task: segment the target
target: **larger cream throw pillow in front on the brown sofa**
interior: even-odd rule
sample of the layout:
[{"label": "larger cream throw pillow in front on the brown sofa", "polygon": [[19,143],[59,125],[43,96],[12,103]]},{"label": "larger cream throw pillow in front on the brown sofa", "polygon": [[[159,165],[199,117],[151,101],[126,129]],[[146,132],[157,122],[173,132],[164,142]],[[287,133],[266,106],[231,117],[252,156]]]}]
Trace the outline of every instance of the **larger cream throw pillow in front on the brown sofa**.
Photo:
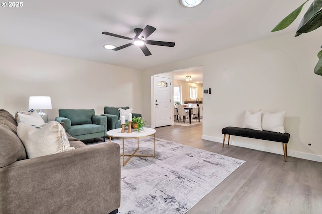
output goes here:
[{"label": "larger cream throw pillow in front on the brown sofa", "polygon": [[41,127],[19,123],[17,135],[25,146],[28,158],[74,149],[70,147],[65,129],[57,121],[50,121]]}]

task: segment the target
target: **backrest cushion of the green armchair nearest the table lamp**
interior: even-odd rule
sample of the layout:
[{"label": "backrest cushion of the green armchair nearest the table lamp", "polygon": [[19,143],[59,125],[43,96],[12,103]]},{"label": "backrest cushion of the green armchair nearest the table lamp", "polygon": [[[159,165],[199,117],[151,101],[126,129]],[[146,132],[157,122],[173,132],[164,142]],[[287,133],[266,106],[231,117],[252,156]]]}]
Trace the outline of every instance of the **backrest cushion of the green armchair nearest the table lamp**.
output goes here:
[{"label": "backrest cushion of the green armchair nearest the table lamp", "polygon": [[[71,125],[92,124],[94,109],[59,109],[59,117],[69,118]],[[69,133],[70,134],[70,133]]]}]

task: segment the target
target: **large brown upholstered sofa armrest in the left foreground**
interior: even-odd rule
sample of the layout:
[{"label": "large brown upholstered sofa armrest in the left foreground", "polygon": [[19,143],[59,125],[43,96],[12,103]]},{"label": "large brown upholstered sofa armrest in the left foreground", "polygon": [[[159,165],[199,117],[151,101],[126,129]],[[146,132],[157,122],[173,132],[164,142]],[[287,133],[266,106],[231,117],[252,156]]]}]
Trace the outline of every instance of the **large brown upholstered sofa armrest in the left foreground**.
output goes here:
[{"label": "large brown upholstered sofa armrest in the left foreground", "polygon": [[120,207],[120,166],[113,142],[16,161],[0,168],[0,213],[109,213]]}]

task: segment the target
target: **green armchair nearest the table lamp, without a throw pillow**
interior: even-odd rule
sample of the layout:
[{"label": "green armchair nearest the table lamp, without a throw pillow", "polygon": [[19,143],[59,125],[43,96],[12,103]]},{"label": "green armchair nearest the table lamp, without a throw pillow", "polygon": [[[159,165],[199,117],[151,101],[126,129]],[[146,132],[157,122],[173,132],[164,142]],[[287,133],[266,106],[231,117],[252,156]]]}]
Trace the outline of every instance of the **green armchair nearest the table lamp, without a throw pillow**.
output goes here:
[{"label": "green armchair nearest the table lamp, without a throw pillow", "polygon": [[94,109],[59,109],[56,121],[65,123],[65,130],[74,138],[85,140],[103,137],[107,132],[107,118],[95,115]]}]

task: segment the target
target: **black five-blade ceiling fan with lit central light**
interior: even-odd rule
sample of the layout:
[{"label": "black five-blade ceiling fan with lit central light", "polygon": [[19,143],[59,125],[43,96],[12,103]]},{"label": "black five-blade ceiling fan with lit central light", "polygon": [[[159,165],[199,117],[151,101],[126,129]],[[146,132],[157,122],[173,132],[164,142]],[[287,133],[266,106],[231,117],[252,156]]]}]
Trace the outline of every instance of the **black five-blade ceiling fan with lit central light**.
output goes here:
[{"label": "black five-blade ceiling fan with lit central light", "polygon": [[102,32],[102,34],[109,35],[109,36],[114,36],[114,37],[119,37],[119,38],[122,38],[122,39],[132,40],[132,42],[130,42],[128,44],[113,48],[112,49],[113,51],[118,51],[118,50],[121,50],[123,48],[129,47],[131,45],[138,45],[141,48],[141,50],[143,51],[144,55],[149,56],[149,55],[151,55],[151,52],[146,47],[146,45],[159,45],[159,46],[167,46],[167,47],[174,47],[175,46],[174,42],[163,42],[163,41],[147,40],[147,37],[149,37],[155,30],[156,30],[156,28],[154,28],[153,26],[150,26],[150,25],[145,26],[144,29],[135,28],[134,29],[134,33],[135,33],[134,38],[130,38],[130,37],[126,37],[126,36],[120,36],[120,35],[109,33],[109,32]]}]

